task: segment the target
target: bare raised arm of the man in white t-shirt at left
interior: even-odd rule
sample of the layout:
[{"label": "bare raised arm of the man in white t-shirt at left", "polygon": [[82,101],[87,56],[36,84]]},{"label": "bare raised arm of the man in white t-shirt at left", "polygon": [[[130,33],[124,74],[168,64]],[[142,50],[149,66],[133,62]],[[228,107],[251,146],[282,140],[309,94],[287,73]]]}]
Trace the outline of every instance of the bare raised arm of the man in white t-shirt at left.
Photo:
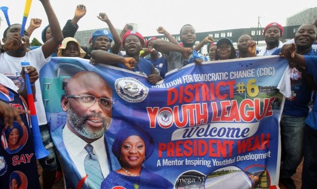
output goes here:
[{"label": "bare raised arm of the man in white t-shirt at left", "polygon": [[42,46],[44,57],[47,58],[63,41],[63,33],[49,0],[40,0],[40,2],[42,3],[44,10],[46,12],[48,23],[50,25],[52,32],[52,37],[49,40],[47,40]]}]

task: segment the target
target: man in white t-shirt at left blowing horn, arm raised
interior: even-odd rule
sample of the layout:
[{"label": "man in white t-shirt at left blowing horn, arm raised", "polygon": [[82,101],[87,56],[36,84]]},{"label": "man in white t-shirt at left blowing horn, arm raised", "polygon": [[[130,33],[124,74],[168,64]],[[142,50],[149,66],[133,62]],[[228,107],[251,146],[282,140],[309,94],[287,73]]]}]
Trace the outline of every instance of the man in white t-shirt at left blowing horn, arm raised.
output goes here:
[{"label": "man in white t-shirt at left blowing horn, arm raised", "polygon": [[[52,37],[48,39],[43,44],[43,46],[27,52],[27,49],[30,46],[30,39],[28,33],[24,31],[24,34],[22,36],[22,43],[20,36],[20,24],[12,24],[8,28],[6,28],[3,33],[2,42],[4,44],[1,45],[0,73],[4,74],[11,80],[19,80],[22,84],[24,83],[24,80],[22,79],[21,75],[21,62],[30,62],[33,67],[35,67],[37,70],[40,70],[40,68],[45,63],[50,61],[51,54],[54,52],[55,49],[57,49],[58,45],[63,40],[63,34],[59,22],[49,0],[40,0],[40,2],[42,3],[47,14],[52,34]],[[43,188],[50,189],[52,188],[55,181],[55,174],[58,168],[58,162],[57,156],[55,155],[54,151],[54,144],[49,134],[44,104],[41,100],[42,95],[39,80],[35,82],[35,86],[37,89],[35,106],[37,110],[42,141],[44,146],[50,152],[47,157],[40,159],[39,162],[43,168]]]}]

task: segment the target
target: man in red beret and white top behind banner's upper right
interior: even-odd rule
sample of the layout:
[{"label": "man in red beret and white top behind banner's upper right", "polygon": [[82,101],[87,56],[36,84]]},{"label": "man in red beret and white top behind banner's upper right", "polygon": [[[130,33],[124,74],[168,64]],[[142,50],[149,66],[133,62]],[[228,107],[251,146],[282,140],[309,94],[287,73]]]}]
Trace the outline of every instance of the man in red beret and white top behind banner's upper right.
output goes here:
[{"label": "man in red beret and white top behind banner's upper right", "polygon": [[272,22],[268,24],[263,30],[263,36],[265,38],[266,46],[260,49],[258,56],[270,56],[277,49],[282,47],[282,43],[279,41],[283,36],[283,27]]}]

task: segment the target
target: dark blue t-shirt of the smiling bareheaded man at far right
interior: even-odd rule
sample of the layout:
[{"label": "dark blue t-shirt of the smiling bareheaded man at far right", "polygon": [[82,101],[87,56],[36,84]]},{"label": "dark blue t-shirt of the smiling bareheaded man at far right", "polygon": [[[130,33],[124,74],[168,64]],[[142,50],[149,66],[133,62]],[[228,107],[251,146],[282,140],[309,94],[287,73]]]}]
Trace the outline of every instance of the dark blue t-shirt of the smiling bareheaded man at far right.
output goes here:
[{"label": "dark blue t-shirt of the smiling bareheaded man at far right", "polygon": [[[272,55],[278,55],[280,48],[276,49]],[[315,55],[313,48],[304,55]],[[287,61],[287,60],[285,60]],[[312,90],[308,87],[304,78],[291,80],[291,97],[286,98],[283,108],[283,115],[294,117],[306,117],[309,112],[308,103],[312,98]]]}]

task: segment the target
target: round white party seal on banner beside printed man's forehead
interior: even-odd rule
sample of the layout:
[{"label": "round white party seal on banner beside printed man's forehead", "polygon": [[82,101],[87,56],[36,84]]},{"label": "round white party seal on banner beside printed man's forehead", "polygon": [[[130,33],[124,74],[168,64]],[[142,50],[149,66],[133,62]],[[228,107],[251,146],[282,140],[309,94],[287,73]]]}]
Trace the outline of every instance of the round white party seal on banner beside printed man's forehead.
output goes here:
[{"label": "round white party seal on banner beside printed man's forehead", "polygon": [[142,102],[149,94],[149,88],[139,80],[125,77],[115,82],[117,94],[127,102]]}]

